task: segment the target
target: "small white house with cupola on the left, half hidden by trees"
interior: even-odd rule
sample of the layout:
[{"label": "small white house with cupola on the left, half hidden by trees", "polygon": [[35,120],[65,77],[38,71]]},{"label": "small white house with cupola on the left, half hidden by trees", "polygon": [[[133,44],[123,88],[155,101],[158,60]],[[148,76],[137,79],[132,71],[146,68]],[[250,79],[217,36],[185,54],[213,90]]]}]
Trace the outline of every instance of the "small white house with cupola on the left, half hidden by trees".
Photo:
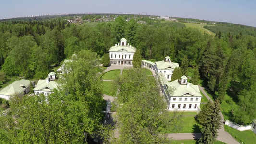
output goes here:
[{"label": "small white house with cupola on the left, half hidden by trees", "polygon": [[57,83],[51,81],[50,77],[47,77],[44,80],[39,80],[36,87],[33,89],[35,95],[44,94],[45,96],[52,93],[52,90],[57,88]]}]

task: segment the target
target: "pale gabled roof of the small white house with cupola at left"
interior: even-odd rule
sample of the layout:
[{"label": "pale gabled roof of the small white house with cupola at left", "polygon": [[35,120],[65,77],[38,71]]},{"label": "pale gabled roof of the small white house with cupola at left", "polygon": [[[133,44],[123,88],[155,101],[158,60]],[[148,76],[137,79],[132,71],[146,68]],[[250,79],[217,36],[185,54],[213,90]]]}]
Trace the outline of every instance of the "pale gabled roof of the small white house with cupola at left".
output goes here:
[{"label": "pale gabled roof of the small white house with cupola at left", "polygon": [[57,83],[55,81],[50,81],[49,83],[45,80],[39,80],[37,86],[33,89],[34,91],[51,91],[57,88]]}]

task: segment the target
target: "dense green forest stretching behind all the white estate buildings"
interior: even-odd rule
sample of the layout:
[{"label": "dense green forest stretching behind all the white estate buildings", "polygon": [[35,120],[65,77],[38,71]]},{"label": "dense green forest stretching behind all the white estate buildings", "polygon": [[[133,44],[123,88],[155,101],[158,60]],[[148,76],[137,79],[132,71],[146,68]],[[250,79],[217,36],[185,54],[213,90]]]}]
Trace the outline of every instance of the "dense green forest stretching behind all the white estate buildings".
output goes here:
[{"label": "dense green forest stretching behind all the white estate buildings", "polygon": [[[138,24],[138,20],[146,24]],[[228,94],[239,105],[231,112],[240,124],[256,118],[256,28],[218,23],[205,26],[211,36],[178,22],[161,23],[148,17],[131,19],[118,16],[114,22],[70,24],[63,18],[41,21],[0,22],[0,81],[6,76],[40,79],[81,50],[100,57],[121,38],[141,50],[151,61],[171,60],[199,67],[205,88],[219,101]],[[3,76],[1,76],[3,75]]]}]

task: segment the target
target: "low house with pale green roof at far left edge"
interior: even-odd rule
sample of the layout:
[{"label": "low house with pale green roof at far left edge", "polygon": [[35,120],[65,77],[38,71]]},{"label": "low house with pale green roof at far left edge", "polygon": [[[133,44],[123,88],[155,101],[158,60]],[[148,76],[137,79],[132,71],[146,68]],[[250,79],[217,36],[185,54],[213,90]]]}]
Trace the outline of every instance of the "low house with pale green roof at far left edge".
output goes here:
[{"label": "low house with pale green roof at far left edge", "polygon": [[0,97],[9,100],[12,96],[22,97],[30,92],[30,81],[19,80],[14,81],[0,91]]}]

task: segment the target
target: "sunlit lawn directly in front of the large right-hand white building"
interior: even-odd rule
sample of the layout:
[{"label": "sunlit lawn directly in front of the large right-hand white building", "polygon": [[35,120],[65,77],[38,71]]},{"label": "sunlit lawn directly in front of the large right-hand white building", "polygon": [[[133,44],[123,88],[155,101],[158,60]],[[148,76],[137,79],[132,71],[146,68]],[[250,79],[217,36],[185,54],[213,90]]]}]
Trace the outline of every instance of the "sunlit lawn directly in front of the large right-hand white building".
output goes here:
[{"label": "sunlit lawn directly in front of the large right-hand white building", "polygon": [[[172,116],[173,112],[168,112],[170,117]],[[183,112],[183,128],[179,132],[171,132],[171,130],[165,130],[165,133],[200,133],[202,126],[198,124],[194,116],[197,112]]]}]

